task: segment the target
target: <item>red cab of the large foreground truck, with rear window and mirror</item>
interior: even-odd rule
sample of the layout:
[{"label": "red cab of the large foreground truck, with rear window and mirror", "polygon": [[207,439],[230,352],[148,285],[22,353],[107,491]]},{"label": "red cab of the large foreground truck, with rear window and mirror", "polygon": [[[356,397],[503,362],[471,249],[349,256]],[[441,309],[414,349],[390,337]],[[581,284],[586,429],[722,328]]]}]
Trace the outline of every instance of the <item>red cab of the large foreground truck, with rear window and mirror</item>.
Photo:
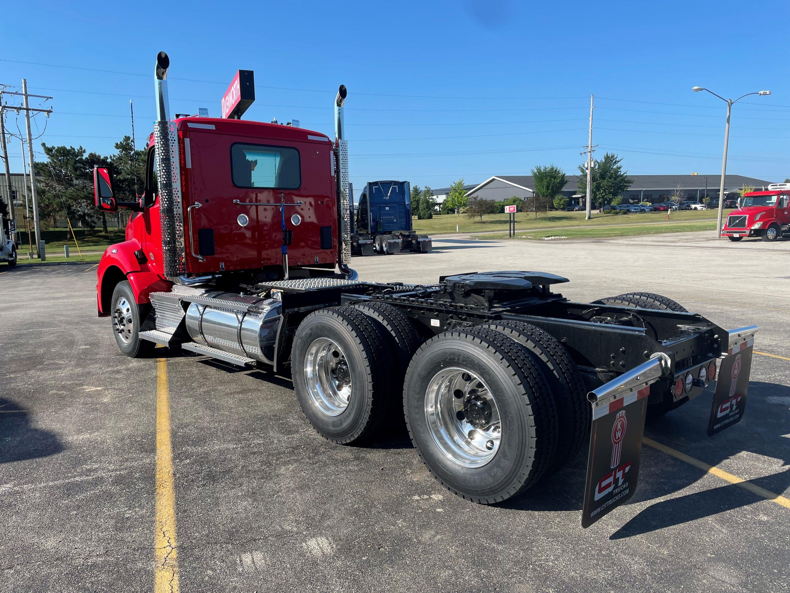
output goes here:
[{"label": "red cab of the large foreground truck, with rear window and mirror", "polygon": [[[284,244],[292,274],[335,266],[334,155],[325,134],[240,119],[182,117],[172,125],[179,159],[175,216],[186,281],[224,272],[240,280],[282,278]],[[100,210],[134,212],[126,240],[108,247],[98,268],[99,313],[108,315],[120,277],[141,304],[152,291],[172,285],[163,268],[154,134],[138,201],[116,201],[109,172],[100,169],[95,176]]]}]

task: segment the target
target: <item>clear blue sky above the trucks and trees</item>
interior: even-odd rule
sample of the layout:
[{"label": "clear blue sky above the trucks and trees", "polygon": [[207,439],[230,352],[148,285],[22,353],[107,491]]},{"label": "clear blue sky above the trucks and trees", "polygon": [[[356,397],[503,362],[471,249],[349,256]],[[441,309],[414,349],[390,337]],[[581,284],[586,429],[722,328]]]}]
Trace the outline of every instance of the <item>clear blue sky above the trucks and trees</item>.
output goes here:
[{"label": "clear blue sky above the trucks and trees", "polygon": [[[733,108],[728,172],[784,181],[788,12],[787,2],[13,2],[0,83],[26,77],[29,92],[55,97],[36,150],[100,153],[130,133],[130,99],[145,143],[160,50],[171,57],[172,113],[219,115],[242,68],[257,86],[246,119],[299,119],[331,134],[343,83],[357,187],[434,188],[538,164],[575,173],[590,93],[596,156],[618,153],[633,174],[715,175],[726,105],[691,87],[732,98],[769,89]],[[34,135],[44,123],[36,117]],[[16,130],[16,115],[7,125]],[[10,153],[21,171],[17,140]]]}]

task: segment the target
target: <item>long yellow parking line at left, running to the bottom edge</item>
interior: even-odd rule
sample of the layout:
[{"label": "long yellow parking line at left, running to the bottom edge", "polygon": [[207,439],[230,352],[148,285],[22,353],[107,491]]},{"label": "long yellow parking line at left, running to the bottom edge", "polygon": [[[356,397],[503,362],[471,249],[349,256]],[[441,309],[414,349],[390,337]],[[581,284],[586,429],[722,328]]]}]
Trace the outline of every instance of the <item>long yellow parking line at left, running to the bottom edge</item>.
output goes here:
[{"label": "long yellow parking line at left, running to the bottom edge", "polygon": [[167,359],[156,361],[156,530],[154,533],[154,593],[179,593],[179,563],[175,541],[175,488],[170,440],[170,394]]}]

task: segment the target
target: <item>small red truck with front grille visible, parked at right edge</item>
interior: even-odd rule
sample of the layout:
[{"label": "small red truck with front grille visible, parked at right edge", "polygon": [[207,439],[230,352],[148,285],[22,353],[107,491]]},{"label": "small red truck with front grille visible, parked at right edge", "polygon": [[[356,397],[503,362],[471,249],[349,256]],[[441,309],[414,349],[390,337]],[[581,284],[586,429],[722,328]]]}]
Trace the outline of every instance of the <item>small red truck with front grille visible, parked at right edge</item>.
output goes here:
[{"label": "small red truck with front grille visible, parked at right edge", "polygon": [[790,236],[790,183],[771,183],[768,191],[749,191],[729,213],[721,234],[731,241],[745,236],[775,241]]}]

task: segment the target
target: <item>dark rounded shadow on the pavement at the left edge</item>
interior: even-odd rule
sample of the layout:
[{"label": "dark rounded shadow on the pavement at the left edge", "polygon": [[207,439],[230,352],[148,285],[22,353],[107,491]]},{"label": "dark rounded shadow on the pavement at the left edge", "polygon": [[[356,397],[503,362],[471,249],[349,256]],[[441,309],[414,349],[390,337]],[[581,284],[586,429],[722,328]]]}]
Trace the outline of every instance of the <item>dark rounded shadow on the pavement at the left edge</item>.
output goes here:
[{"label": "dark rounded shadow on the pavement at the left edge", "polygon": [[47,457],[62,450],[54,432],[34,428],[27,410],[0,398],[0,463]]}]

